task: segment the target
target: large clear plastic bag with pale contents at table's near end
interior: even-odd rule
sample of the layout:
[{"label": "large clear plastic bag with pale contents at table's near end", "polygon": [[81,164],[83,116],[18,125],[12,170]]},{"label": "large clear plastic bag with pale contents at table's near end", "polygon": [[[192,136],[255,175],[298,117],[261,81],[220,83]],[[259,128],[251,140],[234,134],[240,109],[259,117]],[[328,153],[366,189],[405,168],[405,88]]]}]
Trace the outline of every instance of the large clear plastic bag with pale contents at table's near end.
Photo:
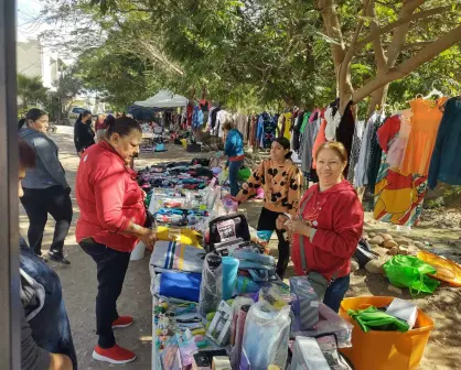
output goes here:
[{"label": "large clear plastic bag with pale contents at table's near end", "polygon": [[255,303],[246,316],[243,351],[251,370],[269,364],[285,369],[290,337],[290,306],[276,309],[266,301]]}]

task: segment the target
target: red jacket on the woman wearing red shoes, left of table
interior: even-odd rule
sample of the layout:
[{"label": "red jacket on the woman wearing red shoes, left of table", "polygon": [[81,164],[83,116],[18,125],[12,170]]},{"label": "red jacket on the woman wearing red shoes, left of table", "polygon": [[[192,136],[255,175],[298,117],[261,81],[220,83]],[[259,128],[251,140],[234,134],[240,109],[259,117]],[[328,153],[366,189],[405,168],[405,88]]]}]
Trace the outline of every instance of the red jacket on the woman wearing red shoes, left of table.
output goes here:
[{"label": "red jacket on the woman wearing red shoes, left of table", "polygon": [[122,235],[130,221],[144,225],[143,193],[136,173],[106,142],[90,146],[82,156],[76,178],[81,209],[75,236],[77,242],[92,237],[122,252],[130,252],[138,238]]}]

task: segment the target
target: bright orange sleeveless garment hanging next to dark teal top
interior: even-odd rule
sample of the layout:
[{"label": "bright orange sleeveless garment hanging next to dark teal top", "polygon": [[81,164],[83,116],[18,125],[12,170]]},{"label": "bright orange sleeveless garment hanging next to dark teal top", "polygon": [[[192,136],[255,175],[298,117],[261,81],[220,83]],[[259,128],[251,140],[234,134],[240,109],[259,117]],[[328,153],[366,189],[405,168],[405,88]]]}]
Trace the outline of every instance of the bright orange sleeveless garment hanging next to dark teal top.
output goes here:
[{"label": "bright orange sleeveless garment hanging next to dark teal top", "polygon": [[404,173],[428,175],[430,157],[442,119],[442,112],[439,108],[447,99],[441,98],[432,101],[417,98],[410,101],[414,116],[411,117],[411,133],[401,164]]}]

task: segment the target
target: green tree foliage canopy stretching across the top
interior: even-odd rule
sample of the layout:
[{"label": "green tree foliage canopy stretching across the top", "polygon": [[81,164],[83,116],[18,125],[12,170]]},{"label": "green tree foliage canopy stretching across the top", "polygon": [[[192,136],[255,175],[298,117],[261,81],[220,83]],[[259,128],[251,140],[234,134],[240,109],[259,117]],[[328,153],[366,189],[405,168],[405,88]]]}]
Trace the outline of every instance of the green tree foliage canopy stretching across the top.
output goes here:
[{"label": "green tree foliage canopy stretching across the top", "polygon": [[[49,22],[78,20],[65,46],[78,55],[77,74],[85,88],[104,94],[122,110],[135,100],[170,88],[187,98],[208,97],[229,109],[277,110],[298,105],[323,106],[336,96],[336,74],[331,56],[334,40],[324,34],[317,1],[296,0],[46,0]],[[455,3],[451,0],[449,3]],[[425,2],[421,10],[446,6]],[[337,1],[345,44],[369,33],[362,2]],[[401,2],[379,1],[379,25],[395,21]],[[406,37],[416,46],[404,48],[398,63],[414,55],[417,44],[437,39],[459,23],[457,10],[411,23]],[[382,36],[385,51],[393,33]],[[57,35],[47,33],[58,41]],[[61,37],[63,39],[63,37]],[[435,87],[459,91],[459,45],[442,53],[405,79],[394,81],[388,104],[404,106],[416,94]],[[354,57],[352,84],[360,87],[376,77],[374,46]],[[360,104],[366,111],[367,101]]]}]

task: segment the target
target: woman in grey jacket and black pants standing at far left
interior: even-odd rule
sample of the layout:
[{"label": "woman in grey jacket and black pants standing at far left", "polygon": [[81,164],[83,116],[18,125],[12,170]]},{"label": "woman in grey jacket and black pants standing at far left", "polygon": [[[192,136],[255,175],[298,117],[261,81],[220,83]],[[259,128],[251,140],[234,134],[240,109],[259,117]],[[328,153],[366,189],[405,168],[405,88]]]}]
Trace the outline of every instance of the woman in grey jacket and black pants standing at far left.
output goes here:
[{"label": "woman in grey jacket and black pants standing at far left", "polygon": [[73,216],[71,187],[58,159],[57,145],[46,135],[49,116],[33,108],[19,126],[23,127],[19,131],[20,138],[35,152],[35,166],[28,168],[22,182],[24,196],[21,203],[29,217],[29,244],[37,255],[42,255],[43,231],[50,214],[56,225],[49,258],[69,264],[64,258],[63,248]]}]

